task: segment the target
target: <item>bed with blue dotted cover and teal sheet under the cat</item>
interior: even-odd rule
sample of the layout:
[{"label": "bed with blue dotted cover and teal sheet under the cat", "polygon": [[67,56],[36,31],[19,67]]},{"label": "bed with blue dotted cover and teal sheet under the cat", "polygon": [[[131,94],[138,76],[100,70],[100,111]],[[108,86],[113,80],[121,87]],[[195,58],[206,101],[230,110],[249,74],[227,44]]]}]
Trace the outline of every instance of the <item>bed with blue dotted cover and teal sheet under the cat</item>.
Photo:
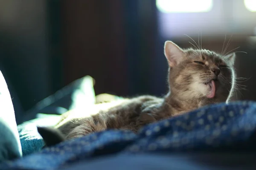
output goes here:
[{"label": "bed with blue dotted cover and teal sheet under the cat", "polygon": [[209,105],[147,125],[138,134],[106,130],[41,149],[36,125],[58,119],[57,114],[38,114],[18,125],[23,157],[3,161],[0,170],[256,168],[252,101]]}]

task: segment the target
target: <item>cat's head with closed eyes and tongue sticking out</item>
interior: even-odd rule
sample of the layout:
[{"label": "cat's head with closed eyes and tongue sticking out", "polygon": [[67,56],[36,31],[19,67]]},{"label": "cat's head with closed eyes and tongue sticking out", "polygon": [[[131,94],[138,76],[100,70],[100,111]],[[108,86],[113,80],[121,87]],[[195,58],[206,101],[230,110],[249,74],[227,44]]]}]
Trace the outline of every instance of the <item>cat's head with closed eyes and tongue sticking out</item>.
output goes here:
[{"label": "cat's head with closed eyes and tongue sticking out", "polygon": [[235,84],[235,53],[222,56],[205,49],[182,49],[166,41],[171,95],[180,99],[227,102]]}]

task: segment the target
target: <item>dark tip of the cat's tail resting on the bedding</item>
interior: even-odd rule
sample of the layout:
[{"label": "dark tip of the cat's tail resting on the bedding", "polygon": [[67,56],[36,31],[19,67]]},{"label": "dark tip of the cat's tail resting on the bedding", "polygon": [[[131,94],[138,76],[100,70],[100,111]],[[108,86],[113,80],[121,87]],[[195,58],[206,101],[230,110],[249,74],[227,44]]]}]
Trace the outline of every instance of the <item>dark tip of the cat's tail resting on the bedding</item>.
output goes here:
[{"label": "dark tip of the cat's tail resting on the bedding", "polygon": [[61,143],[65,140],[65,136],[61,133],[61,131],[53,127],[37,127],[37,129],[38,133],[44,139],[47,147]]}]

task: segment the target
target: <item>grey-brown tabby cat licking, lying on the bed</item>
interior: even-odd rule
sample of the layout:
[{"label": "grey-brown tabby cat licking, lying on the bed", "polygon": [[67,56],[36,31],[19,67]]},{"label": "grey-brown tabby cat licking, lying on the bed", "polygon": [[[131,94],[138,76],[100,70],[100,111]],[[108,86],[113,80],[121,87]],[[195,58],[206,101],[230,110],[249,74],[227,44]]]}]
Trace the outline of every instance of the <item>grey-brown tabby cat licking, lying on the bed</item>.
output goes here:
[{"label": "grey-brown tabby cat licking, lying on the bed", "polygon": [[201,48],[182,49],[174,42],[166,41],[164,54],[169,65],[169,92],[163,98],[139,96],[102,109],[100,105],[94,105],[96,114],[87,117],[72,118],[72,113],[64,114],[55,127],[38,127],[46,145],[106,129],[137,133],[144,125],[204,105],[230,101],[236,83],[235,53],[223,56]]}]

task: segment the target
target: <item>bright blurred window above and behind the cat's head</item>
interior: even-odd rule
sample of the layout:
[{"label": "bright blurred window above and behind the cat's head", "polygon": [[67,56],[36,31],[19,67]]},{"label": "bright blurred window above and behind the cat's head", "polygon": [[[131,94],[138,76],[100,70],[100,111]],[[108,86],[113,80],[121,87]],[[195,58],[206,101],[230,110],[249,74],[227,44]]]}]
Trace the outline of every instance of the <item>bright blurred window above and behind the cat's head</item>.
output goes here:
[{"label": "bright blurred window above and behind the cat's head", "polygon": [[199,30],[202,36],[255,35],[256,0],[156,0],[156,6],[165,38],[198,37]]}]

